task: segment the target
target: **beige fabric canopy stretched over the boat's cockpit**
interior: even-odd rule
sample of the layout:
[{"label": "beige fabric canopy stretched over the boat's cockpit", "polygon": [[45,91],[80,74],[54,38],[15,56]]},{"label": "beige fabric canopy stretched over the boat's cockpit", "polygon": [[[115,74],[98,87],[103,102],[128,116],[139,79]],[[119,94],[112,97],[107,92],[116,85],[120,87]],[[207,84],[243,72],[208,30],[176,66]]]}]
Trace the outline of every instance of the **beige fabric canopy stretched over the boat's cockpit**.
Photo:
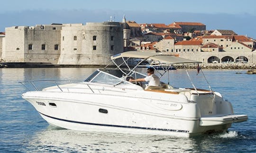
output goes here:
[{"label": "beige fabric canopy stretched over the boat's cockpit", "polygon": [[156,54],[156,53],[146,53],[146,52],[137,52],[137,51],[129,51],[120,54],[115,54],[111,56],[111,60],[121,58],[121,57],[130,57],[130,58],[143,58],[143,59],[151,59],[155,61],[160,61],[162,63],[169,64],[179,64],[179,63],[201,63],[198,61],[193,61],[181,57],[176,57],[174,55],[168,54]]}]

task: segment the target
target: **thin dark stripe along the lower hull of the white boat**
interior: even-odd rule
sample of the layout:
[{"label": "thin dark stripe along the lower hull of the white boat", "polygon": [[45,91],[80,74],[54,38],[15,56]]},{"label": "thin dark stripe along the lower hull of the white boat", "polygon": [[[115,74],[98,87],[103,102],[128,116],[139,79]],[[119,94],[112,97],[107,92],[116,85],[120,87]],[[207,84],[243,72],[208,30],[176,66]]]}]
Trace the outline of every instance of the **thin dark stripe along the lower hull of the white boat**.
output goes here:
[{"label": "thin dark stripe along the lower hull of the white boat", "polygon": [[[40,112],[38,112],[40,113]],[[108,125],[108,124],[98,124],[98,123],[88,123],[88,122],[79,122],[79,121],[72,121],[72,120],[66,120],[66,119],[61,119],[61,118],[56,118],[56,117],[51,117],[48,115],[45,115],[43,113],[40,113],[41,115],[44,115],[46,117],[50,117],[53,119],[57,119],[60,121],[65,121],[65,122],[71,122],[71,123],[79,123],[79,124],[87,124],[87,125],[93,125],[93,126],[112,126],[112,127],[124,127],[124,128],[137,128],[137,129],[145,129],[145,130],[159,130],[159,131],[170,131],[170,132],[184,132],[188,133],[188,130],[174,130],[174,129],[164,129],[164,128],[151,128],[151,127],[138,127],[138,126],[119,126],[119,125]]]}]

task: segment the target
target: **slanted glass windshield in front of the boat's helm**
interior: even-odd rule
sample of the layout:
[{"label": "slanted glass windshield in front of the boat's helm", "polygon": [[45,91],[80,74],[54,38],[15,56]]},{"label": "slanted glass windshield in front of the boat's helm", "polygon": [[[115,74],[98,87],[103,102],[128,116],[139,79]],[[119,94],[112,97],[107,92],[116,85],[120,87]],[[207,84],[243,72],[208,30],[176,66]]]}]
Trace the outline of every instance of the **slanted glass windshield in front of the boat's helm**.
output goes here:
[{"label": "slanted glass windshield in front of the boat's helm", "polygon": [[[111,72],[111,73],[110,73]],[[105,72],[96,70],[91,74],[85,81],[86,82],[95,82],[95,83],[103,83],[103,84],[128,84],[127,81],[122,81],[122,73],[118,72],[118,70],[105,70]]]}]

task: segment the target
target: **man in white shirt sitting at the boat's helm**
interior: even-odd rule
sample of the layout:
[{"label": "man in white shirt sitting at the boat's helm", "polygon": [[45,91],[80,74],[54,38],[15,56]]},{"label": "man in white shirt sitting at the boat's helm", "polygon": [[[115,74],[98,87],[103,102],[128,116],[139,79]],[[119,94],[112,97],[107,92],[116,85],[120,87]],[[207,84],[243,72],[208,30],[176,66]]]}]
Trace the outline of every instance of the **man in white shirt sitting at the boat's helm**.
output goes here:
[{"label": "man in white shirt sitting at the boat's helm", "polygon": [[154,69],[152,67],[148,68],[147,71],[147,77],[141,78],[141,79],[130,79],[130,82],[148,82],[148,86],[159,86],[160,85],[160,79],[158,76],[154,74]]}]

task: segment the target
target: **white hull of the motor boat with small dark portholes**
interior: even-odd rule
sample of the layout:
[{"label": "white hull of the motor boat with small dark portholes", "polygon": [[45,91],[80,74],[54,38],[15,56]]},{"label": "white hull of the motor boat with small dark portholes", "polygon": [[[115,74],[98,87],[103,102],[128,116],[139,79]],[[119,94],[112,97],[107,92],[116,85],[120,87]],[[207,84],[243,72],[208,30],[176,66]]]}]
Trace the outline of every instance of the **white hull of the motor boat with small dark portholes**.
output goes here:
[{"label": "white hull of the motor boat with small dark portholes", "polygon": [[[187,99],[180,101],[184,95],[168,95],[174,101],[170,102],[166,99],[145,98],[154,97],[154,93],[144,90],[142,92],[143,97],[135,96],[133,100],[131,96],[126,96],[127,93],[118,96],[46,91],[27,92],[23,94],[23,98],[49,124],[72,130],[189,137],[225,131],[235,122],[220,119],[225,116],[216,120],[214,117],[201,117],[196,103],[187,103]],[[51,106],[50,103],[56,106]],[[107,113],[104,113],[106,110]],[[226,115],[226,118],[230,117]],[[247,120],[247,116],[243,115],[236,121],[244,120]]]}]

